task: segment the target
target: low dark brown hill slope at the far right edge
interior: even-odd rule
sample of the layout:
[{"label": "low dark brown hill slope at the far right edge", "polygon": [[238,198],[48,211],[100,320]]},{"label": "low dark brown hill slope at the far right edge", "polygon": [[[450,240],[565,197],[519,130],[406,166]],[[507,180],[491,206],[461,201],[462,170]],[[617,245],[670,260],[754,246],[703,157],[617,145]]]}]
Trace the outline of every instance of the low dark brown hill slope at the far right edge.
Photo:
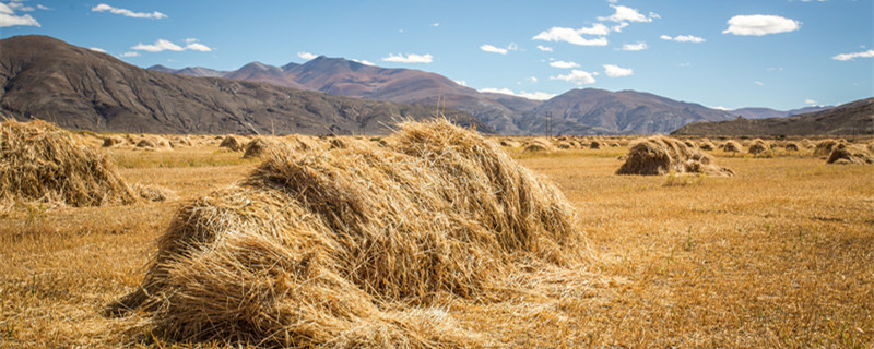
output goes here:
[{"label": "low dark brown hill slope at the far right edge", "polygon": [[745,119],[687,124],[674,135],[841,135],[874,134],[874,98],[787,118]]}]

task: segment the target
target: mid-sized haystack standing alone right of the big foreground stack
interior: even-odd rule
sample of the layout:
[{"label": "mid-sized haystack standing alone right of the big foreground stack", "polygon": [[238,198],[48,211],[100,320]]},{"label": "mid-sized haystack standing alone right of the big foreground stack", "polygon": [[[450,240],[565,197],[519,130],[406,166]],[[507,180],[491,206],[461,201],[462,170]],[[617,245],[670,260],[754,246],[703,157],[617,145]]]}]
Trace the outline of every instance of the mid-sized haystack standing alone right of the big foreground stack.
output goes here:
[{"label": "mid-sized haystack standing alone right of the big foreground stack", "polygon": [[637,141],[631,145],[625,164],[616,170],[616,174],[660,176],[670,172],[734,174],[730,169],[713,164],[710,155],[666,136]]}]

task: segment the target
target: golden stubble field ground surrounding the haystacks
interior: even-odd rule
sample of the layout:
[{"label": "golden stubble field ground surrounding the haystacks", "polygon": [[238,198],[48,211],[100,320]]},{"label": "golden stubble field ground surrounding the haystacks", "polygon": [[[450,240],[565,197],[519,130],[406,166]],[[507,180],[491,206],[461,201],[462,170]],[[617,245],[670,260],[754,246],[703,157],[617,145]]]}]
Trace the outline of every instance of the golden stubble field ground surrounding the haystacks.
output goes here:
[{"label": "golden stubble field ground surrounding the haystacks", "polygon": [[[735,177],[615,176],[625,151],[512,153],[577,208],[591,282],[446,312],[515,347],[874,347],[874,166],[717,153]],[[109,153],[130,183],[176,198],[0,217],[0,348],[186,347],[101,309],[141,282],[178,207],[257,160],[214,145]]]}]

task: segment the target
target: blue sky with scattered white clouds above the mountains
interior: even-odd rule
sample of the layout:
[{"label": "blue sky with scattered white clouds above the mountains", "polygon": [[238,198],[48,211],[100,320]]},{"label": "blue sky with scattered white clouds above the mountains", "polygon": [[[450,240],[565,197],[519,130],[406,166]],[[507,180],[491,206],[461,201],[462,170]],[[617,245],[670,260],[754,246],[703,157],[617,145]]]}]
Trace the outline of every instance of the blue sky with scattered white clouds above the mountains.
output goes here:
[{"label": "blue sky with scattered white clouds above the mountains", "polygon": [[534,98],[594,87],[786,110],[874,96],[873,2],[4,0],[0,37],[142,68],[326,55]]}]

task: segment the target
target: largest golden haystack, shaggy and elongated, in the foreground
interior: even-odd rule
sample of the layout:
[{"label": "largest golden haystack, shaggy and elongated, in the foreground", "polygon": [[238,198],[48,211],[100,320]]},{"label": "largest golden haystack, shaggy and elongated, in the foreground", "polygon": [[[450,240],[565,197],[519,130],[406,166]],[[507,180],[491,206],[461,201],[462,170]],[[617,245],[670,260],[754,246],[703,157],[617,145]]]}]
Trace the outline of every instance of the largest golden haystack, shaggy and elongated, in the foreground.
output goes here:
[{"label": "largest golden haystack, shaggy and elongated, in the foreground", "polygon": [[497,144],[445,120],[390,139],[271,152],[182,207],[142,288],[109,310],[179,340],[481,347],[434,302],[485,301],[528,265],[586,261],[563,194]]}]

